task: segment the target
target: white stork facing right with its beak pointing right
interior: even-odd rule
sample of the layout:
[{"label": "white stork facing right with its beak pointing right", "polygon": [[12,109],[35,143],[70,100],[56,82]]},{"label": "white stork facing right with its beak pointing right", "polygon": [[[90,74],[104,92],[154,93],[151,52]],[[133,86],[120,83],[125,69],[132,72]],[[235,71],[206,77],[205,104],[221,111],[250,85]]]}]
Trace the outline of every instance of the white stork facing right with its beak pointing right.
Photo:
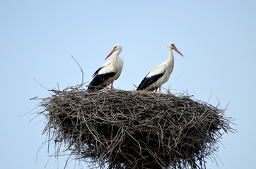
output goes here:
[{"label": "white stork facing right with its beak pointing right", "polygon": [[173,42],[168,43],[167,49],[169,51],[168,59],[161,65],[156,66],[156,68],[153,68],[141,81],[137,90],[153,91],[156,89],[155,92],[157,92],[159,88],[159,92],[161,92],[161,85],[169,80],[170,74],[173,72],[173,49],[183,56]]}]

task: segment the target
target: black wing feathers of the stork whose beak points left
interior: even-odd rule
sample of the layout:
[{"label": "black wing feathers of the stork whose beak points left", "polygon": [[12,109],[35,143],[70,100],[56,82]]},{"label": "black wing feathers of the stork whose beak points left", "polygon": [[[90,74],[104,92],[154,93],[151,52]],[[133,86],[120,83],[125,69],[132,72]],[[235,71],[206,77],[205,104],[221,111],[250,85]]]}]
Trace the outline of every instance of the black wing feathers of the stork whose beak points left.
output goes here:
[{"label": "black wing feathers of the stork whose beak points left", "polygon": [[97,74],[98,71],[101,68],[99,68],[94,74],[93,74],[93,80],[91,81],[91,83],[88,86],[88,90],[94,90],[94,89],[103,89],[104,87],[107,86],[107,84],[105,84],[105,82],[110,78],[115,76],[115,73],[104,73],[104,74]]}]

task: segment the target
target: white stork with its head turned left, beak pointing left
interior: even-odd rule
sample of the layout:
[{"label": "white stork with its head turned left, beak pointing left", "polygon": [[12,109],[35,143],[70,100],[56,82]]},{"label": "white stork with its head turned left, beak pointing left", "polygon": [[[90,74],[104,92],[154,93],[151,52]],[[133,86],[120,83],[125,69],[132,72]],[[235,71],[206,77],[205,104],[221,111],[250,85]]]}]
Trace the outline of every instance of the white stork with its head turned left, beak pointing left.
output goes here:
[{"label": "white stork with its head turned left, beak pointing left", "polygon": [[119,57],[122,51],[122,46],[120,44],[116,44],[109,55],[105,58],[105,60],[111,57],[110,61],[104,63],[98,70],[93,73],[93,80],[88,85],[88,90],[100,90],[111,83],[111,90],[113,88],[113,82],[120,77],[122,72],[122,68],[124,65],[124,61]]}]

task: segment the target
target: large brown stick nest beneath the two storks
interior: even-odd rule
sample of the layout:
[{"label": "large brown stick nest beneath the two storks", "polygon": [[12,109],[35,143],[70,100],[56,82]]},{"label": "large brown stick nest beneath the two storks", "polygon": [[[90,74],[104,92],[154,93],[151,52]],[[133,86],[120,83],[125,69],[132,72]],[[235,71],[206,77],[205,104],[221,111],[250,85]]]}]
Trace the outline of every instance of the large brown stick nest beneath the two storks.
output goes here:
[{"label": "large brown stick nest beneath the two storks", "polygon": [[40,99],[49,142],[99,168],[206,168],[233,130],[223,110],[184,94],[51,91]]}]

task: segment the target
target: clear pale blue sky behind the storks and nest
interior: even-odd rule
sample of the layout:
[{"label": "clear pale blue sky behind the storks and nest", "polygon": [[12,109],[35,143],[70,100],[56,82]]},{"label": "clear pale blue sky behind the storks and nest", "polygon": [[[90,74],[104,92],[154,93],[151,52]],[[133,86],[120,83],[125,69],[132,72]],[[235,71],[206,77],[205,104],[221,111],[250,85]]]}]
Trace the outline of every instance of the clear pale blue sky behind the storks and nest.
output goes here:
[{"label": "clear pale blue sky behind the storks and nest", "polygon": [[[33,78],[48,89],[80,83],[72,54],[88,82],[121,44],[124,69],[114,87],[132,90],[168,58],[168,42],[185,57],[173,51],[175,67],[163,87],[214,106],[220,101],[221,108],[230,103],[226,115],[238,133],[223,135],[219,168],[255,168],[255,8],[254,0],[0,0],[0,168],[64,167],[66,156],[49,158],[52,145],[49,154],[47,145],[40,149],[46,120],[19,118],[39,103],[30,98],[51,94]],[[211,160],[207,167],[217,168]]]}]

